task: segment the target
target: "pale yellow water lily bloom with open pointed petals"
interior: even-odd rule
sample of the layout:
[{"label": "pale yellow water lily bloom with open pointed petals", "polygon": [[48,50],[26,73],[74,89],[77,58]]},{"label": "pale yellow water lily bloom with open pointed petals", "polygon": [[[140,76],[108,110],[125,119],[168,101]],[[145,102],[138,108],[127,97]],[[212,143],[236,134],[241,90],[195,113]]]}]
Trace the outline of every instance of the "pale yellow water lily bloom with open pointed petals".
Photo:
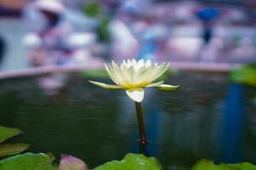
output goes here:
[{"label": "pale yellow water lily bloom with open pointed petals", "polygon": [[89,81],[96,86],[108,89],[123,88],[126,94],[133,100],[141,102],[144,98],[144,88],[160,88],[163,90],[173,90],[179,86],[164,84],[164,81],[154,82],[163,75],[169,68],[169,63],[152,64],[148,59],[127,59],[121,65],[112,61],[111,65],[105,65],[109,77],[115,85],[102,82]]}]

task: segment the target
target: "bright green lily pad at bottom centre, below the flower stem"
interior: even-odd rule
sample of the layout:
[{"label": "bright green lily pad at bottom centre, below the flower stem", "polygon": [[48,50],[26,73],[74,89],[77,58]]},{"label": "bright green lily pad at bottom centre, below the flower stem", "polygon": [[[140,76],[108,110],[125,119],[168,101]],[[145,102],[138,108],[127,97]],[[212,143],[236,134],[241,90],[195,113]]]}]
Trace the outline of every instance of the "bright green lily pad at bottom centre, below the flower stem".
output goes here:
[{"label": "bright green lily pad at bottom centre, below the flower stem", "polygon": [[160,170],[160,164],[154,157],[127,154],[122,161],[109,161],[95,170]]}]

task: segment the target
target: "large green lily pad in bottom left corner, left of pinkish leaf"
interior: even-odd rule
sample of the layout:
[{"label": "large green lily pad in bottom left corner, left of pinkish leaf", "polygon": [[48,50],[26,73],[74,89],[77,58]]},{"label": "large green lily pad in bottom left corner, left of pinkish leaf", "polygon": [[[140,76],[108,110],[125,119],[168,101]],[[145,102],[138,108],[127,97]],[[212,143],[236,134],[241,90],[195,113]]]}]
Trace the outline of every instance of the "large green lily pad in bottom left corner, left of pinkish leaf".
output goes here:
[{"label": "large green lily pad in bottom left corner, left of pinkish leaf", "polygon": [[0,161],[1,170],[53,170],[51,157],[45,154],[26,153]]}]

